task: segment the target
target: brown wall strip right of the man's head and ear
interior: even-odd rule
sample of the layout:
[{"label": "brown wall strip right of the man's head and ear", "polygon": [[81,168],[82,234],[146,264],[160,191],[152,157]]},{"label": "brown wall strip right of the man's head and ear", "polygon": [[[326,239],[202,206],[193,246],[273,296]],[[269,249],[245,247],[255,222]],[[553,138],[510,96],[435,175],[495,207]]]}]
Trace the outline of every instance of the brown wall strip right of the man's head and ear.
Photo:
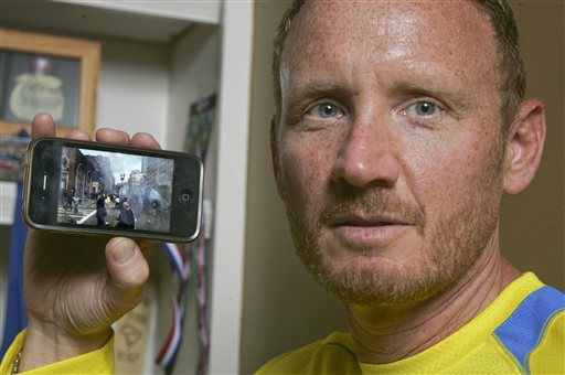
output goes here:
[{"label": "brown wall strip right of the man's head and ear", "polygon": [[535,271],[565,289],[565,2],[514,1],[527,75],[526,97],[545,103],[547,136],[530,188],[508,197],[502,213],[502,250],[521,270]]}]

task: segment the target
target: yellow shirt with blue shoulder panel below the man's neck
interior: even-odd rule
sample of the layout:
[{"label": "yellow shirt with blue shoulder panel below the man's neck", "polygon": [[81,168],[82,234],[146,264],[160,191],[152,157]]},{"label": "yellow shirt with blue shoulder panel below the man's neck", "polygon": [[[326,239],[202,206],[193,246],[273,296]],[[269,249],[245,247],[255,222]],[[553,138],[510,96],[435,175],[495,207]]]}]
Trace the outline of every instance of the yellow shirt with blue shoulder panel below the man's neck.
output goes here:
[{"label": "yellow shirt with blue shoulder panel below the man's neck", "polygon": [[279,355],[258,374],[565,374],[565,294],[533,274],[436,345],[388,364],[360,363],[351,335]]}]

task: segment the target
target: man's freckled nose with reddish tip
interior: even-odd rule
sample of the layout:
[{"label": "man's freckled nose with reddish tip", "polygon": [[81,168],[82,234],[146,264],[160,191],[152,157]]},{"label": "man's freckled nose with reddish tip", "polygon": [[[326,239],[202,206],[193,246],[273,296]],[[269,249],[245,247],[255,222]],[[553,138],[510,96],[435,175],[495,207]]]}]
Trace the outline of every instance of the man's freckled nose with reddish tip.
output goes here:
[{"label": "man's freckled nose with reddish tip", "polygon": [[356,121],[338,152],[332,180],[355,188],[392,188],[401,170],[397,143],[387,126]]}]

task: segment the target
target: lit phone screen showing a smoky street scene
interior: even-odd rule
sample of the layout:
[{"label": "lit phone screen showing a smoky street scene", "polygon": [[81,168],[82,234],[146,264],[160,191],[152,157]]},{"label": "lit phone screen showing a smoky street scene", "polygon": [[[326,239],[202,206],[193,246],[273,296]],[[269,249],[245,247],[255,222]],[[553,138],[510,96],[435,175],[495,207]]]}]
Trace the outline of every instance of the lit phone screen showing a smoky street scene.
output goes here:
[{"label": "lit phone screen showing a smoky street scene", "polygon": [[57,223],[168,233],[174,161],[61,149]]}]

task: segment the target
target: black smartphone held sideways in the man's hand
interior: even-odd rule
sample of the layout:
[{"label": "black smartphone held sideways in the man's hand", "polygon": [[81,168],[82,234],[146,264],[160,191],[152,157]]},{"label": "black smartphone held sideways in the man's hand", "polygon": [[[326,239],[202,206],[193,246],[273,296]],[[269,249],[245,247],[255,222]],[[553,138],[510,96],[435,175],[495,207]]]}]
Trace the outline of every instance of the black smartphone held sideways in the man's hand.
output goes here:
[{"label": "black smartphone held sideways in the man's hand", "polygon": [[202,161],[182,152],[39,138],[28,147],[23,218],[36,229],[191,242]]}]

